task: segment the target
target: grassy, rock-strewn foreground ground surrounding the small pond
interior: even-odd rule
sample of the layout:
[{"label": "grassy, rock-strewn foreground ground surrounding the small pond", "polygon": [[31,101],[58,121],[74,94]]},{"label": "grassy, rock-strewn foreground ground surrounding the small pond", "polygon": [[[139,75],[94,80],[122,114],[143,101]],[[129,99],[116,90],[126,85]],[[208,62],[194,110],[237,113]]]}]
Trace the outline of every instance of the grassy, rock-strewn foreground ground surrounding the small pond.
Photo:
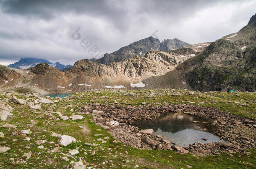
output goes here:
[{"label": "grassy, rock-strewn foreground ground surrounding the small pond", "polygon": [[[255,93],[86,91],[0,94],[1,168],[253,168]],[[183,112],[213,119],[226,143],[182,148],[131,124]],[[238,116],[239,115],[239,116]]]}]

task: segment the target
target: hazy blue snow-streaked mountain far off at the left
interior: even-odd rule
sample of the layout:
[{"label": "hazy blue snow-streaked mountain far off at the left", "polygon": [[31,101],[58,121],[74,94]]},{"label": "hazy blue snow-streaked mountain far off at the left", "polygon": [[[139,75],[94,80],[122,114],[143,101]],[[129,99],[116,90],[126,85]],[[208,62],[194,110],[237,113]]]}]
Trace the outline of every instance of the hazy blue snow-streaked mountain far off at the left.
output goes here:
[{"label": "hazy blue snow-streaked mountain far off at the left", "polygon": [[38,59],[38,58],[21,58],[21,60],[19,60],[18,62],[15,62],[13,64],[8,65],[8,67],[11,68],[16,68],[16,69],[28,69],[28,68],[32,68],[34,66],[37,66],[37,64],[39,63],[47,63],[48,65],[55,67],[58,70],[65,70],[69,67],[71,67],[72,65],[63,65],[60,64],[59,62],[56,63],[52,63],[49,62],[45,59]]}]

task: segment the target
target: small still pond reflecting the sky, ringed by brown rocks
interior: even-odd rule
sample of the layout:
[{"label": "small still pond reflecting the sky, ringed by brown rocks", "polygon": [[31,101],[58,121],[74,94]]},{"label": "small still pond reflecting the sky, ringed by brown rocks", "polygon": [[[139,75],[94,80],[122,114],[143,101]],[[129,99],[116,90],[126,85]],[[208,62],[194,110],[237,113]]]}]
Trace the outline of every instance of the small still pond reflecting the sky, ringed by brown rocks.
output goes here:
[{"label": "small still pond reflecting the sky, ringed by brown rocks", "polygon": [[[192,121],[198,121],[193,123]],[[178,146],[187,147],[189,144],[224,142],[211,134],[214,130],[211,119],[183,113],[165,114],[155,120],[140,120],[133,123],[139,129],[153,129],[154,135],[162,135]],[[203,140],[207,139],[207,140]]]}]

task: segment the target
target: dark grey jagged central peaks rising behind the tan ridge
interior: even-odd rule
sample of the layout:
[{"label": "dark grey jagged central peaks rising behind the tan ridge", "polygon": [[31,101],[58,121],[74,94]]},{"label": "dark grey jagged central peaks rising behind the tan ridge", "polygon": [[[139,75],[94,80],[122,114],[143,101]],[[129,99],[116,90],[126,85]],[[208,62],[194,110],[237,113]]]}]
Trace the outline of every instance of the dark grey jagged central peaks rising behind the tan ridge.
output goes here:
[{"label": "dark grey jagged central peaks rising behind the tan ridge", "polygon": [[149,50],[161,50],[169,53],[171,50],[188,45],[188,43],[177,38],[165,39],[163,42],[160,42],[159,39],[150,36],[122,47],[113,53],[105,53],[102,58],[92,58],[90,61],[109,65],[112,62],[123,62],[125,59],[132,58],[136,55],[143,57]]}]

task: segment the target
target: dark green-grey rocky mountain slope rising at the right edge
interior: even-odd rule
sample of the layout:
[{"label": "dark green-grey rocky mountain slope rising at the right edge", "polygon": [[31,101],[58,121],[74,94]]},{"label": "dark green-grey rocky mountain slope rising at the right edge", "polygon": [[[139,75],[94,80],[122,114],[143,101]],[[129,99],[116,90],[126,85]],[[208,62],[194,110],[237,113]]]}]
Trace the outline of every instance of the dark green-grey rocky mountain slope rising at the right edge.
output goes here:
[{"label": "dark green-grey rocky mountain slope rising at the right edge", "polygon": [[255,91],[256,15],[238,33],[216,40],[165,76],[154,77],[154,82],[163,79],[175,88]]}]

